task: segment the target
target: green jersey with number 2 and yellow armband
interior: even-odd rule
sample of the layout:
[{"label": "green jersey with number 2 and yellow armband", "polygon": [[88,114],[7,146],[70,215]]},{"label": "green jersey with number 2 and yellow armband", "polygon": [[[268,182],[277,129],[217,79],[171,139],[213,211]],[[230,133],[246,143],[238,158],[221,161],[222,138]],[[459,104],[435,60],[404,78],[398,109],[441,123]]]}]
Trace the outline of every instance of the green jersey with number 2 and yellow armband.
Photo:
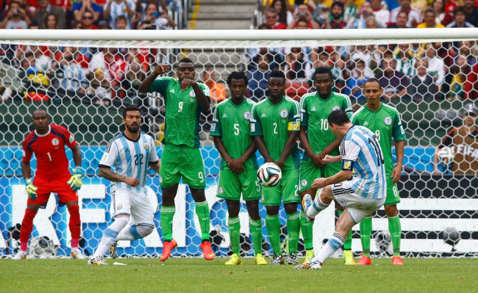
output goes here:
[{"label": "green jersey with number 2 and yellow armband", "polygon": [[[250,117],[250,135],[262,135],[270,157],[274,161],[280,159],[289,131],[299,131],[299,103],[283,97],[277,104],[269,98],[259,101],[252,107]],[[299,169],[300,158],[297,144],[284,162],[282,170]]]}]

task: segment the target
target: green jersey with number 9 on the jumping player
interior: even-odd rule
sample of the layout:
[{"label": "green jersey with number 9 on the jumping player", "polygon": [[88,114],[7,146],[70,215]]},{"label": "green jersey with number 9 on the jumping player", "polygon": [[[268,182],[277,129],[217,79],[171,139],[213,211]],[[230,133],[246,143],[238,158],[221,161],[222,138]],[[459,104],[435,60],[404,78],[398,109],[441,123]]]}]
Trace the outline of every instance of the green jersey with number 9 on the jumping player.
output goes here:
[{"label": "green jersey with number 9 on the jumping player", "polygon": [[[198,83],[204,95],[209,98],[209,88]],[[160,93],[164,98],[166,114],[164,118],[163,144],[187,145],[199,147],[199,107],[193,87],[181,90],[179,80],[160,77],[151,85],[151,93]],[[207,110],[207,109],[203,109]]]}]

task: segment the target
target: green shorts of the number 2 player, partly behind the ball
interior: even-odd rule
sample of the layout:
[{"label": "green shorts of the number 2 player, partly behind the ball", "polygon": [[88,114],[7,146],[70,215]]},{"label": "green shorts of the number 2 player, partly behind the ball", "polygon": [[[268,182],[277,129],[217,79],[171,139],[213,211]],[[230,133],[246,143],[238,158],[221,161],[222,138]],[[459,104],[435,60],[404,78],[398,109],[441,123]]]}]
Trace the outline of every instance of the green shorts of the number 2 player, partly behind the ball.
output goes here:
[{"label": "green shorts of the number 2 player, partly behind the ball", "polygon": [[262,187],[262,197],[260,203],[262,205],[280,205],[281,196],[282,202],[300,202],[299,197],[299,170],[284,170],[282,171],[282,179],[279,185],[274,187]]}]

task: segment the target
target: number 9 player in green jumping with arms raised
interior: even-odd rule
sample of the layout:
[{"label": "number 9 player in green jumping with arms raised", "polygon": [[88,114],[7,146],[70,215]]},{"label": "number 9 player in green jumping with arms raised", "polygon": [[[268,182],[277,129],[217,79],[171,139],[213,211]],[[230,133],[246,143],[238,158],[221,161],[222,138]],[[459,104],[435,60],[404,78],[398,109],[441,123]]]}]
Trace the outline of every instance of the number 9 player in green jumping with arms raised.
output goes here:
[{"label": "number 9 player in green jumping with arms raised", "polygon": [[199,118],[201,112],[209,111],[209,88],[203,83],[194,81],[196,78],[194,63],[188,58],[181,59],[177,64],[178,79],[157,78],[166,73],[168,68],[166,64],[159,64],[139,85],[139,91],[143,93],[160,93],[166,104],[162,168],[159,174],[159,185],[163,193],[161,230],[164,238],[161,261],[169,258],[171,250],[178,245],[173,239],[173,216],[176,211],[174,198],[181,177],[189,186],[196,202],[204,258],[213,260],[214,253],[209,241],[209,206],[204,194],[206,174],[199,150]]}]

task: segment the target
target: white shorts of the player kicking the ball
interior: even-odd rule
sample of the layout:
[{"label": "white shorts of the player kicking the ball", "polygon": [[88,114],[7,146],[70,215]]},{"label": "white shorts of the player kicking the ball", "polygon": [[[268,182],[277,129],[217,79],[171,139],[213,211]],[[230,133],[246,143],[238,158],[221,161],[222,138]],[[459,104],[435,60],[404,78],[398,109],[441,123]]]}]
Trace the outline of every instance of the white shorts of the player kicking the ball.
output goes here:
[{"label": "white shorts of the player kicking the ball", "polygon": [[379,199],[366,198],[352,190],[353,181],[344,181],[331,186],[334,198],[347,208],[354,222],[359,223],[364,217],[380,208],[385,203],[385,197]]}]

